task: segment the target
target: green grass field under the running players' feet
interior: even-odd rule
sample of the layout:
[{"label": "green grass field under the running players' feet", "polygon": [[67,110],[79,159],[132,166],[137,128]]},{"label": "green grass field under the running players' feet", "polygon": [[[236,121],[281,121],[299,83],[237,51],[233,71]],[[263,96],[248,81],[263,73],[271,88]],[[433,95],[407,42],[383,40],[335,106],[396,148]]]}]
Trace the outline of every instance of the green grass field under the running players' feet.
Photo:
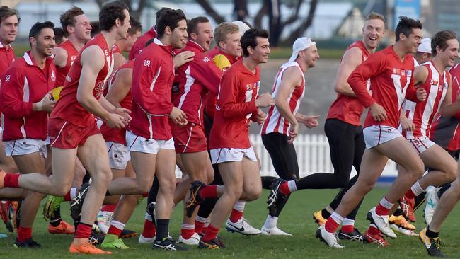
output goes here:
[{"label": "green grass field under the running players' feet", "polygon": [[[357,217],[357,227],[363,232],[368,226],[364,220],[368,209],[376,205],[383,195],[384,188],[376,188],[367,195],[362,204],[362,209]],[[227,248],[220,251],[200,251],[195,247],[190,247],[186,252],[166,252],[153,251],[150,245],[138,244],[137,237],[125,240],[130,250],[115,251],[110,258],[428,258],[424,246],[417,237],[399,236],[395,240],[389,240],[390,246],[377,248],[376,246],[356,243],[352,241],[341,241],[346,246],[345,250],[328,248],[325,244],[318,242],[314,238],[316,224],[311,219],[311,214],[326,205],[335,195],[333,190],[304,190],[292,195],[278,221],[278,226],[293,236],[240,236],[230,234],[224,228],[221,229],[219,236],[224,240]],[[267,215],[265,209],[265,197],[267,192],[263,192],[263,198],[246,205],[245,217],[256,227],[262,226]],[[142,231],[144,219],[145,202],[140,205],[134,213],[132,220],[128,222],[127,229]],[[171,235],[174,238],[180,234],[180,222],[182,205],[178,205],[171,220]],[[41,211],[40,211],[41,212]],[[418,231],[423,227],[422,210],[416,212],[418,221],[416,226]],[[70,221],[68,207],[62,208],[64,219]],[[448,217],[442,229],[442,251],[451,258],[460,257],[459,243],[459,221],[460,210]],[[6,231],[1,224],[0,231]],[[0,258],[88,258],[86,255],[69,255],[68,248],[71,243],[71,236],[50,235],[47,233],[47,224],[43,221],[41,214],[38,215],[33,237],[35,241],[42,244],[42,249],[35,251],[20,250],[13,248],[13,236],[0,239]],[[109,255],[108,255],[109,256]]]}]

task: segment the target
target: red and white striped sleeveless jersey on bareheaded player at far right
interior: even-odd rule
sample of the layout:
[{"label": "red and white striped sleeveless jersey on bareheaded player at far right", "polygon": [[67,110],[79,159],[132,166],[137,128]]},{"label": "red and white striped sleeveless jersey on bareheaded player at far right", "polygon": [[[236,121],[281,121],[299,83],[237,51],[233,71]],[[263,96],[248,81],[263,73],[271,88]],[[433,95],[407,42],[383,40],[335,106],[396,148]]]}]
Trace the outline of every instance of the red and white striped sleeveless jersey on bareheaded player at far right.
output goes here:
[{"label": "red and white striped sleeveless jersey on bareheaded player at far right", "polygon": [[412,132],[402,131],[406,139],[422,136],[430,137],[431,122],[441,107],[442,100],[444,100],[447,87],[449,86],[450,77],[448,71],[439,74],[435,64],[431,61],[422,64],[422,66],[428,69],[428,77],[420,87],[425,88],[428,96],[425,102],[414,103],[410,100],[404,102],[404,113],[406,113],[406,117],[412,120],[415,125],[415,130]]}]

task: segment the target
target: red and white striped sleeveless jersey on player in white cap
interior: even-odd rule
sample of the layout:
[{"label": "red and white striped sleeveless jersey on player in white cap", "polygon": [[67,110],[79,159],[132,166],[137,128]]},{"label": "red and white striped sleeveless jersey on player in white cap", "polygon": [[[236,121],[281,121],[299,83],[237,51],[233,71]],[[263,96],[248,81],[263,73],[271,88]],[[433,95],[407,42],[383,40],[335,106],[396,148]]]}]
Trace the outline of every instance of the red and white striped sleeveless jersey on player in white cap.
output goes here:
[{"label": "red and white striped sleeveless jersey on player in white cap", "polygon": [[[287,62],[280,67],[280,70],[275,77],[275,84],[273,84],[272,98],[276,98],[278,89],[280,88],[280,84],[283,79],[284,71],[286,71],[286,69],[289,67],[297,67],[297,69],[300,71],[300,74],[302,75],[301,84],[299,86],[295,86],[294,90],[291,92],[291,94],[289,94],[289,97],[287,98],[287,103],[289,103],[289,110],[291,110],[291,113],[295,115],[299,110],[301,100],[304,98],[305,94],[304,71],[302,71],[297,62]],[[268,110],[267,118],[263,122],[262,131],[260,134],[264,135],[272,132],[278,132],[288,136],[288,129],[289,121],[282,117],[276,105],[271,106]]]}]

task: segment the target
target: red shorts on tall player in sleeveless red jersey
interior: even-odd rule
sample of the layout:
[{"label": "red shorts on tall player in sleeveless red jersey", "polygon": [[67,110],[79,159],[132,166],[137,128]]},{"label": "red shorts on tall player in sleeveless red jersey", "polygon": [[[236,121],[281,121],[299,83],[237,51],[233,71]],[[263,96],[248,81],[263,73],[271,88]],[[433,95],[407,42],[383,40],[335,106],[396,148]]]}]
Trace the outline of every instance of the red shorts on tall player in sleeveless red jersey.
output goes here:
[{"label": "red shorts on tall player in sleeveless red jersey", "polygon": [[79,127],[61,118],[48,120],[50,145],[58,149],[76,149],[84,145],[88,137],[96,134],[100,134],[96,122],[89,127]]}]

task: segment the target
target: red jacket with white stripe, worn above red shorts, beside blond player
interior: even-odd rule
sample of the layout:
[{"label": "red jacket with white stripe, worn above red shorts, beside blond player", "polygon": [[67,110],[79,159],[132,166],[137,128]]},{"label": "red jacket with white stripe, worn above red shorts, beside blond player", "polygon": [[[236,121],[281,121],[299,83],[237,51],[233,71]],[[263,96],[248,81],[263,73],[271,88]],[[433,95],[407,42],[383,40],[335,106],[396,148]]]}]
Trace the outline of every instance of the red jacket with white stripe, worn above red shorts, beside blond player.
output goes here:
[{"label": "red jacket with white stripe, worn above red shorts, beside blond player", "polygon": [[217,96],[222,71],[196,42],[189,40],[183,51],[192,51],[195,57],[176,70],[172,103],[183,110],[189,123],[203,124],[203,99],[208,91]]}]

